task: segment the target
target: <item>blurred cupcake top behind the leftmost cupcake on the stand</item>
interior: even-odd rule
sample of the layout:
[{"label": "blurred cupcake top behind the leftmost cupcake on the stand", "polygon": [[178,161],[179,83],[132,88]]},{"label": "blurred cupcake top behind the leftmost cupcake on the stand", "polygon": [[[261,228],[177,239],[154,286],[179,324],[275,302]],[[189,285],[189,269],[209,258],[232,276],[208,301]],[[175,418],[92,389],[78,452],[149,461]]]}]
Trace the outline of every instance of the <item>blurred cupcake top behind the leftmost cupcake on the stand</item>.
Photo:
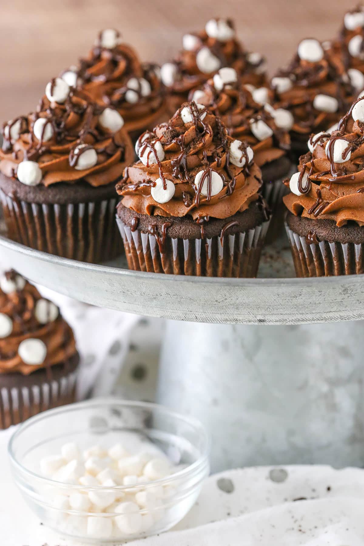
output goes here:
[{"label": "blurred cupcake top behind the leftmost cupcake on the stand", "polygon": [[79,67],[71,67],[60,76],[98,104],[115,108],[134,140],[166,118],[159,67],[142,63],[133,48],[121,43],[114,29],[100,32]]}]

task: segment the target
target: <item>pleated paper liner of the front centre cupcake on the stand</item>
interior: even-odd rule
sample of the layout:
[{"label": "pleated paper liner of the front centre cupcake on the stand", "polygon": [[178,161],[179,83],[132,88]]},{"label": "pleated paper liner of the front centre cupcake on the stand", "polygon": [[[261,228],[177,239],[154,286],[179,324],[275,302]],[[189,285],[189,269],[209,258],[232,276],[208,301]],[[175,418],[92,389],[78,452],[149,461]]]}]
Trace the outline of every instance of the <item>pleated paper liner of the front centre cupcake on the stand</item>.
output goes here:
[{"label": "pleated paper liner of the front centre cupcake on the stand", "polygon": [[244,233],[211,239],[166,238],[159,248],[154,235],[132,232],[117,218],[129,269],[204,277],[255,277],[269,221]]}]

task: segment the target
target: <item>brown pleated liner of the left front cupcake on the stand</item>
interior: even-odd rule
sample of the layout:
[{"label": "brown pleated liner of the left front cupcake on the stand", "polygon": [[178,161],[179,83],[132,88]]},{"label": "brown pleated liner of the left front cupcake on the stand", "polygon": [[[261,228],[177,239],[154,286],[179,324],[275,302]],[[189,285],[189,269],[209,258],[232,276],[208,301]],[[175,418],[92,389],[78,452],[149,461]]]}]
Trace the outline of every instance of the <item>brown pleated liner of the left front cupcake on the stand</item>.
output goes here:
[{"label": "brown pleated liner of the left front cupcake on the stand", "polygon": [[43,252],[100,263],[122,253],[116,198],[67,205],[27,203],[0,189],[10,239]]}]

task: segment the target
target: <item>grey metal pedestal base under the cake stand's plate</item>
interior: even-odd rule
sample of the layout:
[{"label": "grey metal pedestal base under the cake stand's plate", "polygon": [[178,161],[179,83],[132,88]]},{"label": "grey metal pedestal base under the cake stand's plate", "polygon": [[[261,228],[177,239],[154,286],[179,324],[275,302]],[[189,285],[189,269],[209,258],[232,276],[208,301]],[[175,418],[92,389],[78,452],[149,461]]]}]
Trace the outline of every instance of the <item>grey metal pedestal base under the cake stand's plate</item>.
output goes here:
[{"label": "grey metal pedestal base under the cake stand's plate", "polygon": [[364,466],[363,331],[168,321],[157,400],[206,425],[213,472]]}]

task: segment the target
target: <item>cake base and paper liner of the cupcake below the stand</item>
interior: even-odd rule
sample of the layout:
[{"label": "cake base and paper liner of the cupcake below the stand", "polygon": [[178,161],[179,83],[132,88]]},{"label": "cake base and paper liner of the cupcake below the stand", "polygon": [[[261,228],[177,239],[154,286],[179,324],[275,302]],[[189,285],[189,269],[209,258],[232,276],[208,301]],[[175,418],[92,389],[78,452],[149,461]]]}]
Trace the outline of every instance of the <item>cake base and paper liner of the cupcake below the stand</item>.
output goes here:
[{"label": "cake base and paper liner of the cupcake below the stand", "polygon": [[28,376],[0,374],[0,429],[22,423],[42,411],[75,401],[76,376],[80,357]]}]

